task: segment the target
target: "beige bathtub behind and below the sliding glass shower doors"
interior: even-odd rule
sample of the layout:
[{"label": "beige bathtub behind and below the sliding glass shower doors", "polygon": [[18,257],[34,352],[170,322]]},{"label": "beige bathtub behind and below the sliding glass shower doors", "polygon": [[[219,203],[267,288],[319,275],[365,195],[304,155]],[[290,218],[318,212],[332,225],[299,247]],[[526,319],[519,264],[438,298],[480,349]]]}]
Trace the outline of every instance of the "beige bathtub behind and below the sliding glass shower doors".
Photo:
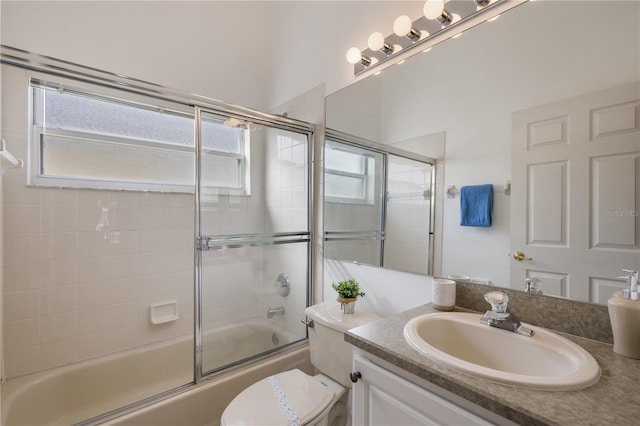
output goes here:
[{"label": "beige bathtub behind and below the sliding glass shower doors", "polygon": [[[226,356],[255,350],[256,344],[273,349],[274,336],[280,344],[288,342],[286,333],[264,323],[209,332],[203,336],[203,365],[225,365],[230,361]],[[214,356],[207,351],[212,346],[222,350]],[[216,425],[226,405],[251,383],[291,368],[313,372],[308,345],[292,346],[296,347],[183,386],[178,393],[101,424]],[[10,379],[2,386],[2,425],[82,422],[189,383],[192,366],[193,343],[182,338]]]}]

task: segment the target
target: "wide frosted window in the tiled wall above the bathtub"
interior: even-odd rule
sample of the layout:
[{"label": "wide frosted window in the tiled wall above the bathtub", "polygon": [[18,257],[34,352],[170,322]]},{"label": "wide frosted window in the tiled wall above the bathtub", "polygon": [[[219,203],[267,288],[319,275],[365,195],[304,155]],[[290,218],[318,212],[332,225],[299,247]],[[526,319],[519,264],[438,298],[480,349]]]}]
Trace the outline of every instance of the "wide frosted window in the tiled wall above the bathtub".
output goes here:
[{"label": "wide frosted window in the tiled wall above the bathtub", "polygon": [[[31,79],[30,183],[193,192],[193,107],[75,81]],[[248,127],[202,122],[206,185],[248,193]]]}]

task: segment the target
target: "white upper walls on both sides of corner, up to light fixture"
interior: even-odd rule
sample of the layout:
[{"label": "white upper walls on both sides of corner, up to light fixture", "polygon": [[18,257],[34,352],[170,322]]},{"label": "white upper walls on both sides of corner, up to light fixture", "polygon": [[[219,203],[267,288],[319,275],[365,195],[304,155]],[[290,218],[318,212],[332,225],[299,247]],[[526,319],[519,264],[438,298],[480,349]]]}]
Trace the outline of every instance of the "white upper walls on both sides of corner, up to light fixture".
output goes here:
[{"label": "white upper walls on both sides of corner, up to light fixture", "polygon": [[421,1],[3,0],[2,44],[270,110],[349,85],[351,46]]}]

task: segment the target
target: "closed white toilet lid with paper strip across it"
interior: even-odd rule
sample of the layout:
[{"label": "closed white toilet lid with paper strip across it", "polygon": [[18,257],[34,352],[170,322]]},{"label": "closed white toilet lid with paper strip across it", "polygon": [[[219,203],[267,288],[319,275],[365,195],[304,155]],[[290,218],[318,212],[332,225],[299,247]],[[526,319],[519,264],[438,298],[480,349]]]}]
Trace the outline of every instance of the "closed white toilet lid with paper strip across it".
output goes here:
[{"label": "closed white toilet lid with paper strip across it", "polygon": [[304,425],[331,404],[334,393],[300,370],[249,386],[222,413],[223,425]]}]

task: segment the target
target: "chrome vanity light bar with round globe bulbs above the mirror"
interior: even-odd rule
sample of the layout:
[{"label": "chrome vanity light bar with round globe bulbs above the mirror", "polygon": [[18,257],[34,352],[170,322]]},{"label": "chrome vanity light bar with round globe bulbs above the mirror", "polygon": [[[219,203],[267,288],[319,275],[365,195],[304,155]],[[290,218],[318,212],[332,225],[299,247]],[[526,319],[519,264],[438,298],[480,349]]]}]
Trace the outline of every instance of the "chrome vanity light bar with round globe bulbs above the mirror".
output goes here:
[{"label": "chrome vanity light bar with round globe bulbs above the mirror", "polygon": [[[398,16],[393,33],[385,37],[380,32],[369,36],[368,49],[352,47],[347,61],[353,65],[355,76],[373,75],[398,64],[419,52],[461,34],[482,22],[529,0],[426,0],[423,15],[411,21],[407,15]],[[445,3],[447,8],[445,9]]]}]

